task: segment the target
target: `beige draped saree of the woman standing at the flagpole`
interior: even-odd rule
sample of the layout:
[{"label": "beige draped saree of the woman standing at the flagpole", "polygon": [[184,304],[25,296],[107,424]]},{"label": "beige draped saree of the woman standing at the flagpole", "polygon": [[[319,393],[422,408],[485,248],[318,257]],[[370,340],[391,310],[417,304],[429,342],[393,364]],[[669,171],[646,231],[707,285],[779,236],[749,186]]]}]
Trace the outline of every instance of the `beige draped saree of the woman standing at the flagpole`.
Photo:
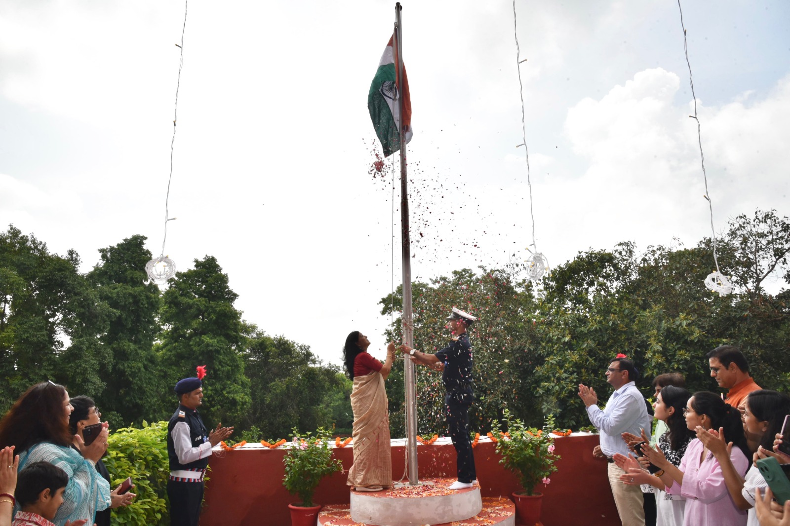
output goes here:
[{"label": "beige draped saree of the woman standing at the flagpole", "polygon": [[354,411],[354,465],[348,470],[346,484],[392,486],[387,393],[380,373],[373,371],[354,377],[351,407]]}]

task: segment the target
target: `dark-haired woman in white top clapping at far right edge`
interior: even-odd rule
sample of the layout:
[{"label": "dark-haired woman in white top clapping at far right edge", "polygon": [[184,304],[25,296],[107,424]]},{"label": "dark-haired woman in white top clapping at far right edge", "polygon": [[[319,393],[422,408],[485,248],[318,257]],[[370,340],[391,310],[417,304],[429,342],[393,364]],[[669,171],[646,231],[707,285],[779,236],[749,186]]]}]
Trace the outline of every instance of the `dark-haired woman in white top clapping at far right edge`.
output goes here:
[{"label": "dark-haired woman in white top clapping at far right edge", "polygon": [[[758,441],[758,449],[772,451],[773,438],[781,432],[784,416],[790,414],[790,396],[777,391],[760,389],[747,395],[746,413],[743,415],[743,429],[747,436]],[[744,478],[735,469],[728,455],[728,437],[724,430],[709,430],[698,433],[702,443],[713,453],[721,464],[724,482],[730,497],[739,509],[748,510],[747,526],[759,526],[760,521],[754,513],[755,489],[765,492],[768,483],[754,463]]]}]

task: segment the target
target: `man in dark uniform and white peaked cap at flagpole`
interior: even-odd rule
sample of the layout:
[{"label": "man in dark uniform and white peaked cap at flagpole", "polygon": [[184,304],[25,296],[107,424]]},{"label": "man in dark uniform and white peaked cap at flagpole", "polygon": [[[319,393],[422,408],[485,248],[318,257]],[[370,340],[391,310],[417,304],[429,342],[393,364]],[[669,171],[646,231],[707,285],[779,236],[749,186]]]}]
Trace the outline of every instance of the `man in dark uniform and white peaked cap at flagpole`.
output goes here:
[{"label": "man in dark uniform and white peaked cap at flagpole", "polygon": [[466,333],[467,327],[477,321],[477,318],[453,307],[453,312],[447,319],[450,320],[453,339],[446,348],[434,355],[417,351],[407,345],[401,345],[401,351],[411,355],[415,363],[443,371],[442,382],[447,391],[447,423],[450,424],[450,438],[453,439],[458,466],[458,479],[450,489],[463,490],[472,487],[472,481],[477,478],[472,442],[469,440],[469,407],[475,398],[472,391],[472,344],[469,344]]}]

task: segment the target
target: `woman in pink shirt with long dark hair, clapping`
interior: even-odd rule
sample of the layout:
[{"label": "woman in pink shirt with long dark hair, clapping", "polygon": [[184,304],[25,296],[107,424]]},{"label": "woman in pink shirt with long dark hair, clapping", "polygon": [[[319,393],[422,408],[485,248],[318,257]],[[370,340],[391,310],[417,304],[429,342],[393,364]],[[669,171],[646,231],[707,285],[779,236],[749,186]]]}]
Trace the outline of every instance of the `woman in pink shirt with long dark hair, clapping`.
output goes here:
[{"label": "woman in pink shirt with long dark hair, clapping", "polygon": [[[665,491],[686,498],[683,526],[745,526],[746,513],[732,501],[722,473],[721,464],[700,440],[701,434],[721,429],[732,440],[729,458],[736,472],[743,475],[749,467],[749,449],[740,412],[724,404],[715,393],[694,393],[683,410],[686,426],[695,430],[697,438],[690,441],[680,465],[675,466],[659,448],[645,448],[642,453],[651,464],[664,470],[660,475]],[[630,468],[634,481],[642,476]],[[629,481],[630,483],[630,481]]]}]

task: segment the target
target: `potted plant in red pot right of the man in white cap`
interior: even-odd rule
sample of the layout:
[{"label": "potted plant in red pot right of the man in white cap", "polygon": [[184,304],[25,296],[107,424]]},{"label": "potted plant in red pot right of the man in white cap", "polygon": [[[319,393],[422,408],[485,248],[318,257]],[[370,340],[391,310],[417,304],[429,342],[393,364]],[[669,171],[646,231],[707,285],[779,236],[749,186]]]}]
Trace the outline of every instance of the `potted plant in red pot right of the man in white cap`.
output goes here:
[{"label": "potted plant in red pot right of the man in white cap", "polygon": [[551,482],[549,475],[557,471],[554,463],[560,458],[554,453],[554,438],[551,437],[554,416],[548,415],[544,428],[539,430],[525,426],[506,409],[505,423],[506,432],[498,422],[491,430],[496,440],[496,451],[502,456],[499,464],[513,472],[524,488],[513,493],[518,523],[537,524],[543,494],[538,493],[536,487],[539,483],[545,487]]}]

